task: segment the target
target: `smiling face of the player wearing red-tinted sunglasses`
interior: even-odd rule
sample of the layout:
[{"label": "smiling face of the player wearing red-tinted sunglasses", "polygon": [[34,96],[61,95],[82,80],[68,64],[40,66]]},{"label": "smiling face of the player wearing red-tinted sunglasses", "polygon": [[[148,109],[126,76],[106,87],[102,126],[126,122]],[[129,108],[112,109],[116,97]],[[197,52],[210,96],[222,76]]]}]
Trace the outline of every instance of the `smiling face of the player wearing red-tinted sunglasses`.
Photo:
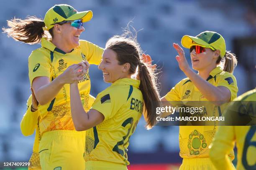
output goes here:
[{"label": "smiling face of the player wearing red-tinted sunglasses", "polygon": [[202,71],[208,67],[216,66],[216,60],[218,54],[216,51],[212,51],[210,48],[205,48],[205,52],[196,54],[195,49],[190,52],[192,67],[194,70]]}]

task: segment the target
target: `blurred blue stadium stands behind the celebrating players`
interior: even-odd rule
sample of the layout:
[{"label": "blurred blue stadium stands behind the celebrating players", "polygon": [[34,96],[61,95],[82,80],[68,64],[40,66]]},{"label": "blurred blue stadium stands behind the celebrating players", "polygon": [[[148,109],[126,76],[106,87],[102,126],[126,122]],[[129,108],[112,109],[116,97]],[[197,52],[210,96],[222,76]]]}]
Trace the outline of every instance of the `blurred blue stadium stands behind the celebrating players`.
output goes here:
[{"label": "blurred blue stadium stands behind the celebrating players", "polygon": [[[143,51],[151,55],[161,68],[159,82],[161,96],[185,77],[175,60],[172,47],[183,35],[197,35],[205,30],[223,35],[227,50],[235,52],[238,66],[234,72],[238,95],[256,86],[256,1],[255,0],[4,0],[1,3],[0,26],[14,16],[35,15],[44,18],[55,4],[69,4],[78,11],[92,10],[93,18],[85,23],[80,39],[101,47],[113,35],[122,34],[130,20],[138,32]],[[143,30],[141,30],[143,29]],[[0,34],[0,168],[3,162],[27,162],[34,136],[24,137],[20,120],[26,112],[26,101],[31,94],[28,80],[28,56],[41,45],[15,42]],[[189,50],[185,49],[190,62]],[[91,94],[108,87],[97,66],[90,68]],[[129,170],[177,169],[179,157],[179,127],[145,129],[143,119],[131,138],[128,157]],[[154,164],[154,165],[153,165]],[[23,169],[23,168],[16,168]]]}]

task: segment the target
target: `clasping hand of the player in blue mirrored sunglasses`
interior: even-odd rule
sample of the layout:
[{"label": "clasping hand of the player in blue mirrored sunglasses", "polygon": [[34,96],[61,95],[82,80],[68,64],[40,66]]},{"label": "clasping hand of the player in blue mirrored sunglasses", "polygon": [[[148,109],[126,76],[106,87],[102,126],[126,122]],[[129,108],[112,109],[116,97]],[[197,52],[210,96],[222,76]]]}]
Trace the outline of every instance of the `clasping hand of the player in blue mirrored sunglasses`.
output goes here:
[{"label": "clasping hand of the player in blue mirrored sunglasses", "polygon": [[83,64],[81,64],[81,62],[79,64],[70,65],[61,75],[59,75],[61,83],[71,84],[78,83],[80,80],[82,80],[84,74],[86,73],[85,70],[83,70],[82,65]]}]

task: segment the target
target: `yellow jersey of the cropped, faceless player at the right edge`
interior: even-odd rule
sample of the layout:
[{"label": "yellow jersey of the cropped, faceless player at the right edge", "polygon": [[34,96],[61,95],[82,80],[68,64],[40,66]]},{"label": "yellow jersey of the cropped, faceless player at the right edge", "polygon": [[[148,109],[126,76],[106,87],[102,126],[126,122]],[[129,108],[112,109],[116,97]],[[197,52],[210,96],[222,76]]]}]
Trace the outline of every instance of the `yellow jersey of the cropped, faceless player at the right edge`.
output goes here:
[{"label": "yellow jersey of the cropped, faceless player at the right edge", "polygon": [[[234,101],[256,101],[256,89],[250,90],[237,97]],[[238,104],[238,105],[236,105]],[[246,112],[253,113],[256,117],[255,102],[246,102]],[[242,102],[232,102],[228,106],[230,110],[245,107]],[[234,112],[227,109],[223,114]],[[210,158],[215,167],[231,170],[232,163],[227,159],[227,154],[233,149],[236,142],[237,147],[237,169],[256,169],[256,125],[254,126],[220,126],[210,149]]]}]

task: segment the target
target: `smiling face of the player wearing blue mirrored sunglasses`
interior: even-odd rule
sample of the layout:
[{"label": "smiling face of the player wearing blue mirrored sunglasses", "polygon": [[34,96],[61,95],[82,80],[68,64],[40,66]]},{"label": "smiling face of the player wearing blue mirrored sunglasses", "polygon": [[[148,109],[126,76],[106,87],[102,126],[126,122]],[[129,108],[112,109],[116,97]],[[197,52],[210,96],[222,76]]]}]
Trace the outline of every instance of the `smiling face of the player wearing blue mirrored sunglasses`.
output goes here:
[{"label": "smiling face of the player wearing blue mirrored sunglasses", "polygon": [[65,23],[61,26],[61,37],[63,42],[67,45],[67,47],[73,49],[79,46],[79,37],[81,33],[84,31],[84,27],[77,29],[72,27],[70,23]]}]

